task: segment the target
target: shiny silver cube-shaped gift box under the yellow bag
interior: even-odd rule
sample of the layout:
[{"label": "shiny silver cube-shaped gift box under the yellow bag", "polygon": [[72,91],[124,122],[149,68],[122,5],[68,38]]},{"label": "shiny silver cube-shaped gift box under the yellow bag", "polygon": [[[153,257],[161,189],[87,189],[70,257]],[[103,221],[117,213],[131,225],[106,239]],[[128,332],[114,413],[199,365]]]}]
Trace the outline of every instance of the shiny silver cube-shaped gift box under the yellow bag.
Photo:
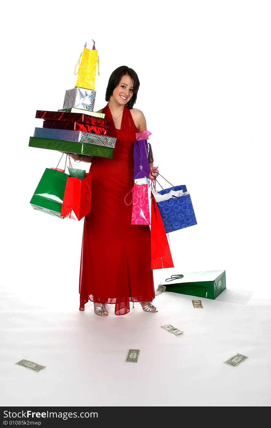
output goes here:
[{"label": "shiny silver cube-shaped gift box under the yellow bag", "polygon": [[84,88],[67,89],[63,108],[79,108],[82,110],[94,110],[96,91]]}]

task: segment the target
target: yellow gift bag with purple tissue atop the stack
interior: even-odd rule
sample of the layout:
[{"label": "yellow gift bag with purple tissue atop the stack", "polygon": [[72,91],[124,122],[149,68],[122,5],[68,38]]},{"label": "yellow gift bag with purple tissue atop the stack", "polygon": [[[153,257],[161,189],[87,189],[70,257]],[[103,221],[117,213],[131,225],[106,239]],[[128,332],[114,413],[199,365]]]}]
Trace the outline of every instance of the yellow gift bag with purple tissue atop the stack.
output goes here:
[{"label": "yellow gift bag with purple tissue atop the stack", "polygon": [[77,64],[79,64],[77,73],[76,73],[77,64],[75,65],[74,74],[75,75],[78,74],[75,87],[79,86],[80,88],[91,89],[92,91],[94,91],[97,62],[98,62],[98,75],[100,75],[99,57],[98,57],[98,51],[96,51],[95,49],[95,42],[92,50],[87,49],[85,45],[84,50],[80,54],[80,58],[78,59],[78,62],[77,62]]}]

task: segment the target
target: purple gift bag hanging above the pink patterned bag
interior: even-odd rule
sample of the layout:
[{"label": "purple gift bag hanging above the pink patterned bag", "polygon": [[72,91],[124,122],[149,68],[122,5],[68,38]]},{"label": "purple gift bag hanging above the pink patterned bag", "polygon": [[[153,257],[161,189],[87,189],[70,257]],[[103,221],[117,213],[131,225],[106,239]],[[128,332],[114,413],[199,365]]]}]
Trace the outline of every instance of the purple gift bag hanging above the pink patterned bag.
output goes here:
[{"label": "purple gift bag hanging above the pink patterned bag", "polygon": [[134,142],[134,180],[136,178],[149,177],[149,152],[150,144],[147,140]]}]

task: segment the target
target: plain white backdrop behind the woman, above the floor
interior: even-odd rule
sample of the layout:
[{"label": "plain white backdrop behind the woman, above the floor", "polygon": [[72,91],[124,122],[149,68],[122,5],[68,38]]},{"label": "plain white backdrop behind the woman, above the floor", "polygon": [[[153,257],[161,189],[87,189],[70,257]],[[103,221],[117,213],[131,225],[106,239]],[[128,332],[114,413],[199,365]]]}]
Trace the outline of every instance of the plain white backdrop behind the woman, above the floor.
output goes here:
[{"label": "plain white backdrop behind the woman, above the floor", "polygon": [[111,72],[134,68],[135,107],[152,132],[155,165],[191,193],[198,225],[170,235],[176,268],[155,271],[155,284],[172,272],[226,269],[228,288],[269,293],[268,6],[259,0],[1,1],[5,288],[30,303],[79,307],[83,220],[59,220],[30,206],[59,153],[28,142],[42,126],[36,110],[63,107],[79,54],[93,38],[100,56],[95,110],[105,105]]}]

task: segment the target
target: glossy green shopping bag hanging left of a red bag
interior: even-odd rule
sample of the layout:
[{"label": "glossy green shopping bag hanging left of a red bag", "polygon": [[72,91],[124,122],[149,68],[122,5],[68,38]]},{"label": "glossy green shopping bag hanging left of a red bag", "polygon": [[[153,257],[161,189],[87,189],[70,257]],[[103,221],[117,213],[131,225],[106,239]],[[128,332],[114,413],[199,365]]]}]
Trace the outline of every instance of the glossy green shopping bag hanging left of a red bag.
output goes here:
[{"label": "glossy green shopping bag hanging left of a red bag", "polygon": [[67,178],[64,172],[46,168],[30,201],[33,208],[60,217]]}]

